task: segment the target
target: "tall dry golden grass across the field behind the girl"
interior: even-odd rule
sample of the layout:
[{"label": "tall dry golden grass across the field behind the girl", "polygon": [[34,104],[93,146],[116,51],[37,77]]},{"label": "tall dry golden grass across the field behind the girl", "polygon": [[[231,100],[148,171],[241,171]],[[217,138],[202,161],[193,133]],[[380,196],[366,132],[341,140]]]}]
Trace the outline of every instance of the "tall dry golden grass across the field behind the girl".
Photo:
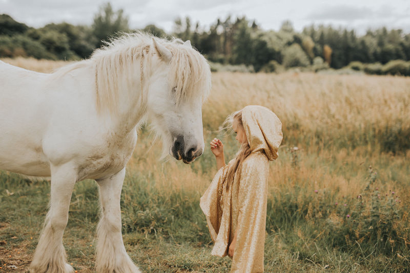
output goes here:
[{"label": "tall dry golden grass across the field behind the girl", "polygon": [[[3,61],[46,73],[67,64],[64,61],[32,58]],[[349,162],[352,170],[360,168],[358,166],[364,163],[377,164],[376,158],[389,157],[387,154],[380,155],[382,151],[389,152],[389,147],[383,147],[378,142],[383,137],[391,137],[384,136],[383,133],[392,131],[392,134],[402,133],[404,137],[410,137],[408,77],[214,73],[211,95],[203,105],[206,143],[218,135],[218,127],[231,112],[250,104],[266,106],[278,115],[284,133],[281,150],[290,156],[286,149],[299,146],[299,165],[306,165],[311,171],[313,166],[329,163],[326,158],[334,158],[335,164]],[[205,158],[205,167],[186,168],[172,160],[159,164],[156,159],[159,148],[152,144],[152,139],[145,140],[147,136],[149,133],[144,133],[137,144],[128,164],[130,172],[148,172],[155,176],[157,185],[162,190],[185,188],[203,191],[213,171],[212,163],[210,164],[213,158],[207,151],[204,155],[210,158]],[[228,152],[233,155],[237,147],[235,143],[231,143],[229,136],[220,137],[232,146],[227,149],[231,149]],[[395,137],[391,145],[401,146],[393,151],[404,157],[390,156],[389,161],[392,163],[408,158],[407,149],[410,148],[406,146],[409,145],[408,139],[398,139],[400,135]],[[280,158],[278,162],[271,164],[271,170],[271,181],[276,181],[275,187],[278,187],[280,181],[286,181],[286,177],[295,175],[291,162],[282,162]],[[302,176],[313,177],[317,184],[315,187],[337,187],[342,196],[348,192],[358,192],[361,187],[357,175],[349,177],[340,173],[326,174],[321,168],[316,168],[310,174],[303,169],[299,169],[299,172],[303,173]],[[365,173],[366,170],[362,170],[362,176]],[[326,179],[317,179],[318,177]]]}]

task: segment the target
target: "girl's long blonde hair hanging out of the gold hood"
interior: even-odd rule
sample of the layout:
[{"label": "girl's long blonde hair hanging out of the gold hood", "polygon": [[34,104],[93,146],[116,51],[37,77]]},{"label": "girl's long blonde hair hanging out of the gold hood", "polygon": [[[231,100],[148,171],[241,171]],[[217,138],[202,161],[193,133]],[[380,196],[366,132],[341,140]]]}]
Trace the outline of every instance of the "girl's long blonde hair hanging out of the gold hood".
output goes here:
[{"label": "girl's long blonde hair hanging out of the gold hood", "polygon": [[[242,123],[242,110],[234,112],[232,115],[230,115],[227,120],[224,122],[224,125],[227,123],[230,123],[232,127],[232,123],[234,120],[238,121],[238,124],[242,127],[243,129],[243,123]],[[235,160],[233,162],[232,168],[228,170],[227,174],[227,191],[229,189],[229,185],[233,182],[235,178],[235,174],[238,173],[240,176],[240,168],[242,166],[242,162],[245,160],[245,158],[248,157],[248,155],[251,154],[251,147],[249,146],[248,140],[243,143],[239,149],[239,151],[236,153]],[[239,179],[240,177],[238,177]]]}]

